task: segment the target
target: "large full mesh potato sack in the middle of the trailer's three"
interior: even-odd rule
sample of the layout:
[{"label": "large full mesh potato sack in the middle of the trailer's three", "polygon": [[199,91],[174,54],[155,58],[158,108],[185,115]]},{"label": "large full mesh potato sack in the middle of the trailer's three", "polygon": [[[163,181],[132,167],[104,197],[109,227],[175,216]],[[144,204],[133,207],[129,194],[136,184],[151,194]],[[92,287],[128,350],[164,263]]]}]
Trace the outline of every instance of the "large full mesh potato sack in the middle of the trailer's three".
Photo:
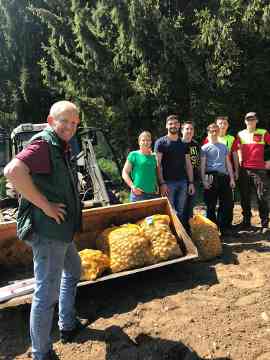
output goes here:
[{"label": "large full mesh potato sack in the middle of the trailer's three", "polygon": [[152,263],[149,242],[135,224],[105,229],[96,245],[109,256],[113,273]]}]

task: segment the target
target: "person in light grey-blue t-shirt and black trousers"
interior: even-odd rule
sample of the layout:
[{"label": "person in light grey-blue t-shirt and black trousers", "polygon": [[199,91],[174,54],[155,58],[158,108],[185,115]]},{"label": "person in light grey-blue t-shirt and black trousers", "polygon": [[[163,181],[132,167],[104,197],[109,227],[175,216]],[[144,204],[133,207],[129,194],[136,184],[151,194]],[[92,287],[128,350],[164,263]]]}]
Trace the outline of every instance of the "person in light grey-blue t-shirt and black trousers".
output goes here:
[{"label": "person in light grey-blue t-shirt and black trousers", "polygon": [[[209,143],[201,148],[201,176],[207,217],[219,226],[222,235],[230,232],[230,212],[235,187],[232,164],[226,145],[218,142],[219,127],[207,127]],[[218,214],[216,205],[219,202]]]}]

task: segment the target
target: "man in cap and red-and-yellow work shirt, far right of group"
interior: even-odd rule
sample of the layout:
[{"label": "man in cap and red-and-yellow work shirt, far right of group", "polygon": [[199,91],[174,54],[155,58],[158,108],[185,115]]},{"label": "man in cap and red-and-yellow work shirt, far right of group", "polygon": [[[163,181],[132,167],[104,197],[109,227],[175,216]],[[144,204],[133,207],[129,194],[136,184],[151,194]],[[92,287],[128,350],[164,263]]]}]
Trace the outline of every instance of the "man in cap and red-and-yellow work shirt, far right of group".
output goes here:
[{"label": "man in cap and red-and-yellow work shirt, far right of group", "polygon": [[243,211],[241,230],[249,230],[251,225],[251,190],[255,189],[261,218],[260,232],[268,230],[269,206],[267,202],[269,179],[264,161],[264,149],[270,144],[270,134],[265,129],[257,128],[258,118],[255,112],[245,116],[246,129],[238,133],[237,147],[240,160],[240,196]]}]

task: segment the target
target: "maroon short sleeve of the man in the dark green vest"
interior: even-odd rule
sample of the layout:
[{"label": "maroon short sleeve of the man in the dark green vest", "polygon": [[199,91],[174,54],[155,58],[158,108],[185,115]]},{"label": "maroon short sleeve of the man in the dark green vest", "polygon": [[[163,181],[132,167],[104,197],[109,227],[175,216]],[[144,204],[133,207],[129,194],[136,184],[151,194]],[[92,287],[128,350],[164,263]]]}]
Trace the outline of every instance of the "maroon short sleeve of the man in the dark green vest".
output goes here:
[{"label": "maroon short sleeve of the man in the dark green vest", "polygon": [[23,161],[32,174],[51,173],[49,145],[44,140],[33,141],[16,158]]}]

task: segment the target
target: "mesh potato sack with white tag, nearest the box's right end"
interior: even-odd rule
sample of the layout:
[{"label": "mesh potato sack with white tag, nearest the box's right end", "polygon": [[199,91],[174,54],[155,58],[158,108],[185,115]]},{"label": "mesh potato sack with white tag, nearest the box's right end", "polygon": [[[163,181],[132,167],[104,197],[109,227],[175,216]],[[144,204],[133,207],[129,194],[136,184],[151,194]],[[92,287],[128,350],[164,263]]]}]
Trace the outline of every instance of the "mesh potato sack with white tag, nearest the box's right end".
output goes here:
[{"label": "mesh potato sack with white tag, nearest the box's right end", "polygon": [[176,237],[170,230],[169,216],[148,216],[140,223],[144,236],[150,242],[154,263],[183,256]]}]

